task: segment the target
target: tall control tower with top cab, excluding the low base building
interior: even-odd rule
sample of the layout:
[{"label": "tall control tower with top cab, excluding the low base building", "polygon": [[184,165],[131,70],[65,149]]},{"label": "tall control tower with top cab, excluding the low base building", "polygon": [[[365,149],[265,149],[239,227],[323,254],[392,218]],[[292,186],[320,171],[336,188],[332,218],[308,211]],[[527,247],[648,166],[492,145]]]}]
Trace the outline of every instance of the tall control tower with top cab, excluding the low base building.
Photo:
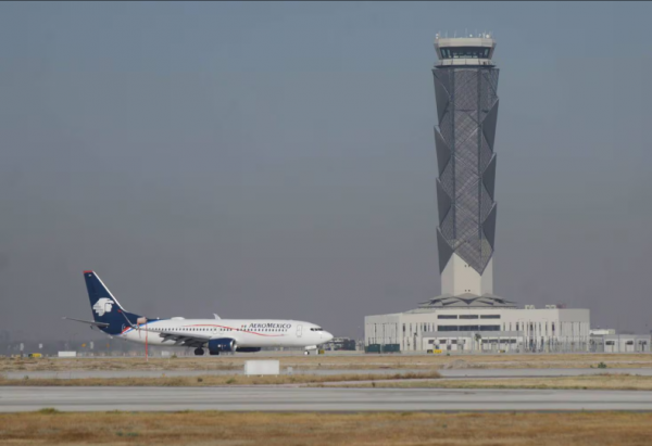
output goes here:
[{"label": "tall control tower with top cab, excluding the low base building", "polygon": [[[437,35],[437,245],[441,294],[492,295],[498,73],[490,35]],[[471,296],[468,296],[471,297]]]}]

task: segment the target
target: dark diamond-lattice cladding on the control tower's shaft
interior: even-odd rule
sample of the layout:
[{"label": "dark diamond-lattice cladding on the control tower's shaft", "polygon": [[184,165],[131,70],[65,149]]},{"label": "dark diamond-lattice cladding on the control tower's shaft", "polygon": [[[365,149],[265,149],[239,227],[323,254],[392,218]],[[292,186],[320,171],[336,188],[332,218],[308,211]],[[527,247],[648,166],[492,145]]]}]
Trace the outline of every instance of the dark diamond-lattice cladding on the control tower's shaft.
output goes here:
[{"label": "dark diamond-lattice cladding on the control tower's shaft", "polygon": [[443,270],[455,253],[481,275],[494,249],[499,71],[443,67],[432,73],[439,117],[439,267]]}]

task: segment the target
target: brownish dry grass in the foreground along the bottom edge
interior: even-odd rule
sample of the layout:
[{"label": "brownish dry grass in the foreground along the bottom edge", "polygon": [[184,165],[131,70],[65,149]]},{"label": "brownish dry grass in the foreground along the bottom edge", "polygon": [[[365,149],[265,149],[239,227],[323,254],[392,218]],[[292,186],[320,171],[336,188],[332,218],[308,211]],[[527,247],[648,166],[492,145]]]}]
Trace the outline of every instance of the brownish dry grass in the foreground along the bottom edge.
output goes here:
[{"label": "brownish dry grass in the foreground along the bottom edge", "polygon": [[0,415],[0,444],[267,446],[638,446],[652,413],[33,413]]}]

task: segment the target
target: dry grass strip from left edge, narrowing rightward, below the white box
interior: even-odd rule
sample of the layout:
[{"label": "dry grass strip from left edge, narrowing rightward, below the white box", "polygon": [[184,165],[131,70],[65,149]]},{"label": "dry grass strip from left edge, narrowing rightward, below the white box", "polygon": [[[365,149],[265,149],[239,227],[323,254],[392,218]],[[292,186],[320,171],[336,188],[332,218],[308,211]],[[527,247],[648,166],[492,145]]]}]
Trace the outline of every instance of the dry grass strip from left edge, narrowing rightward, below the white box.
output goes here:
[{"label": "dry grass strip from left edge, narrowing rightward, below the white box", "polygon": [[159,377],[159,378],[79,378],[79,379],[27,379],[9,380],[0,378],[0,386],[214,386],[214,385],[252,385],[252,384],[308,384],[334,381],[379,381],[396,379],[435,379],[439,373],[435,370],[411,373],[338,373],[338,374],[280,374],[278,377],[244,377],[241,374],[201,377]]}]

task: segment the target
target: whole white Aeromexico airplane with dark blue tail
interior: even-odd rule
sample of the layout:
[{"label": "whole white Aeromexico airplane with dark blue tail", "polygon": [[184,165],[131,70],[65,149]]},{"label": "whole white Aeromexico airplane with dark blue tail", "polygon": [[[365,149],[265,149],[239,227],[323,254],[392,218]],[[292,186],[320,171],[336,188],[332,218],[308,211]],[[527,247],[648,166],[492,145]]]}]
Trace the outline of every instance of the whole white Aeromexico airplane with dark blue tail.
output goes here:
[{"label": "whole white Aeromexico airplane with dark blue tail", "polygon": [[333,334],[311,322],[277,319],[150,319],[129,313],[117,302],[100,277],[84,271],[93,320],[64,317],[98,328],[110,336],[151,345],[195,347],[195,355],[260,352],[262,347],[304,347],[316,352]]}]

